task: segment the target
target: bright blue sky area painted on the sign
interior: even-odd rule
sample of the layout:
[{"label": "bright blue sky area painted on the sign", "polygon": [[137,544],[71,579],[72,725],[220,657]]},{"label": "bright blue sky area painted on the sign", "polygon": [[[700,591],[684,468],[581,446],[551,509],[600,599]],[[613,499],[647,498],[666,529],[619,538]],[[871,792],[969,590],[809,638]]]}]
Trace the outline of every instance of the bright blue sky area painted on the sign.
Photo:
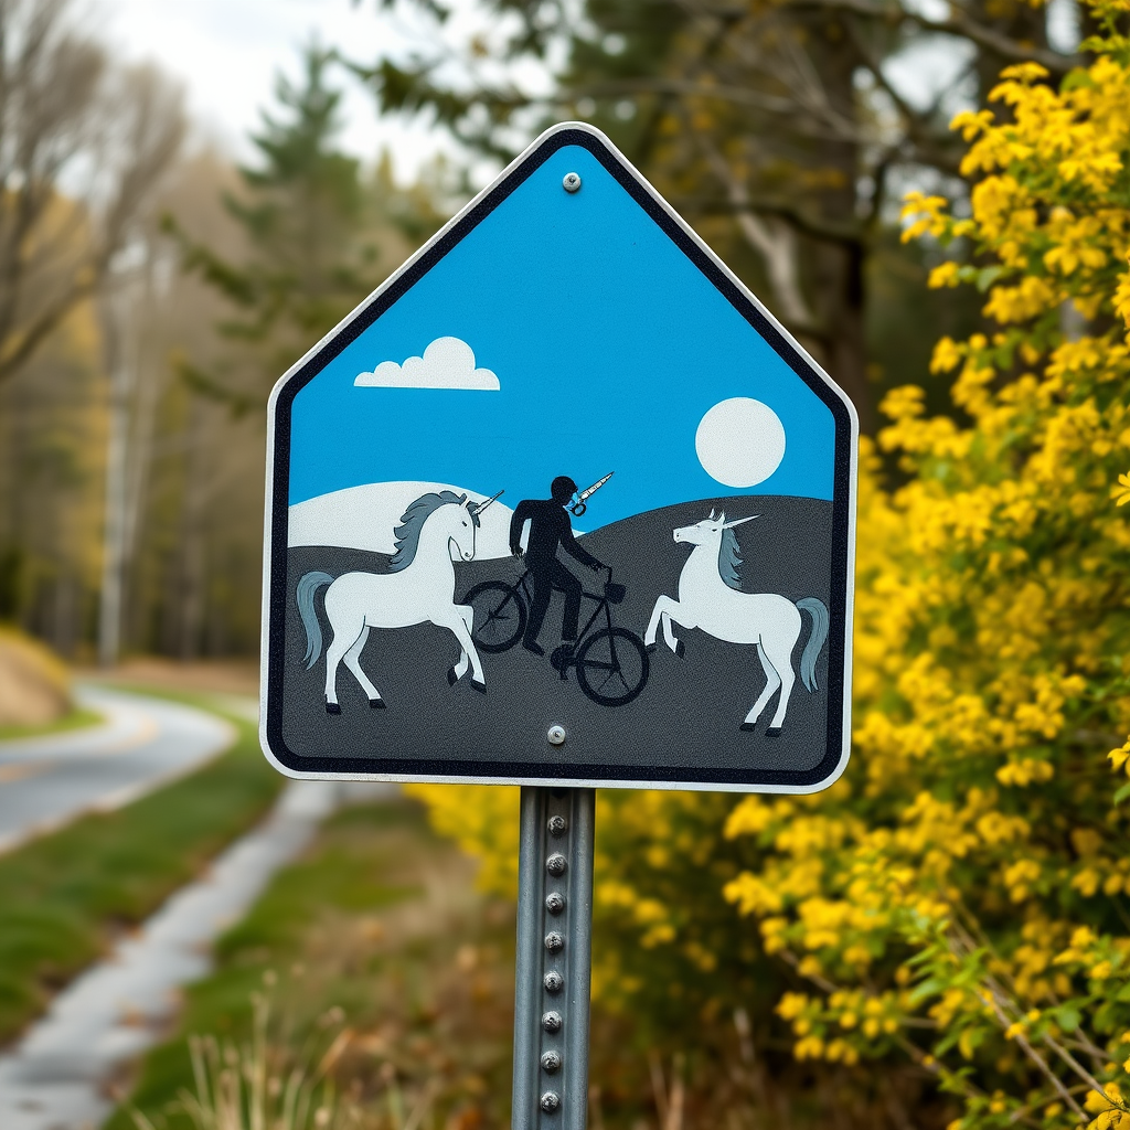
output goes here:
[{"label": "bright blue sky area painted on the sign", "polygon": [[[575,194],[562,189],[571,171]],[[454,377],[355,385],[446,337],[470,346],[497,390]],[[447,353],[449,367],[471,364]],[[784,426],[780,466],[746,489],[711,478],[696,454],[699,421],[730,398],[768,405]],[[556,475],[585,487],[615,471],[582,523],[596,529],[696,498],[832,497],[832,412],[577,147],[554,154],[302,389],[290,434],[292,503],[419,480],[505,489],[513,506],[547,497]]]}]

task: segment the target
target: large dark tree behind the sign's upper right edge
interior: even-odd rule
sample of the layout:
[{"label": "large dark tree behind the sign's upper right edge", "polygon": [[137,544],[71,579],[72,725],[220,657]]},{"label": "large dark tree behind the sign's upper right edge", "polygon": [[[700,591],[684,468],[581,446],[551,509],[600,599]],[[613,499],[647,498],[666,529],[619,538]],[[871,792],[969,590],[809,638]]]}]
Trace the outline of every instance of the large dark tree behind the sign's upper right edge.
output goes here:
[{"label": "large dark tree behind the sign's upper right edge", "polygon": [[[498,156],[547,118],[600,125],[767,295],[868,431],[868,263],[893,198],[909,176],[956,176],[946,122],[963,101],[983,99],[1001,66],[1038,58],[1063,73],[1074,61],[1049,45],[1041,5],[1020,0],[945,15],[871,0],[588,0],[580,18],[565,0],[489,9],[513,34],[475,36],[459,79],[440,50],[356,69],[383,108],[427,108]],[[922,49],[948,51],[956,66],[936,88],[910,89],[890,64]],[[485,66],[548,68],[562,55],[548,94]]]}]

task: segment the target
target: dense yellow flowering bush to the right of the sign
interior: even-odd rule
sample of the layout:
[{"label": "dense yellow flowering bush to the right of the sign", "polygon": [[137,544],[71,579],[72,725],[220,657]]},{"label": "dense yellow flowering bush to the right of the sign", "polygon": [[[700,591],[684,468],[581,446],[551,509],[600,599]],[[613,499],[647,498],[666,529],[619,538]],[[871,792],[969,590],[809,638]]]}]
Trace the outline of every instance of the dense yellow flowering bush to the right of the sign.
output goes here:
[{"label": "dense yellow flowering bush to the right of the sign", "polygon": [[[988,328],[935,349],[953,415],[896,390],[861,452],[849,772],[601,794],[606,999],[765,1002],[798,1060],[935,1080],[953,1130],[1130,1130],[1128,12],[1090,0],[1087,66],[1010,67],[958,115],[968,215],[907,200]],[[476,837],[421,792],[512,881],[512,797]]]}]

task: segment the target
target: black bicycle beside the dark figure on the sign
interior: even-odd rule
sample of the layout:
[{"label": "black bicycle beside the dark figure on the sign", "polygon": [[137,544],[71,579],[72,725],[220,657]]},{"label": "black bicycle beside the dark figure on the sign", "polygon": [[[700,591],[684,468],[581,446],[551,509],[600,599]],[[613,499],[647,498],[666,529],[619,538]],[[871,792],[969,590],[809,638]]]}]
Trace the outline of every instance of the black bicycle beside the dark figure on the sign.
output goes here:
[{"label": "black bicycle beside the dark figure on the sign", "polygon": [[[608,568],[606,565],[605,568]],[[525,634],[529,618],[530,571],[527,570],[514,584],[503,581],[484,581],[463,598],[463,603],[475,609],[471,638],[475,645],[489,654],[508,651]],[[650,660],[643,640],[627,628],[612,624],[612,605],[624,600],[623,584],[612,583],[612,571],[601,594],[583,592],[586,600],[596,602],[574,644],[554,649],[549,662],[562,679],[570,667],[576,668],[581,690],[601,706],[625,706],[647,683]],[[603,614],[605,626],[593,631]]]}]

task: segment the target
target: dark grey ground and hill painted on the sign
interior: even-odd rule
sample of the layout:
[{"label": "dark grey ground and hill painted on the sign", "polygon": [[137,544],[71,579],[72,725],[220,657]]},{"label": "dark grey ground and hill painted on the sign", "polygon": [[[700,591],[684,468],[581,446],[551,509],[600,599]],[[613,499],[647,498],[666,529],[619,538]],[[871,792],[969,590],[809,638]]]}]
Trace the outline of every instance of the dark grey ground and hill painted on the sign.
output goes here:
[{"label": "dark grey ground and hill painted on the sign", "polygon": [[[829,603],[831,503],[779,496],[714,498],[638,514],[582,539],[590,553],[612,567],[614,580],[627,590],[623,602],[612,607],[617,627],[642,638],[657,597],[678,594],[679,573],[690,547],[676,544],[672,530],[706,518],[712,507],[724,510],[729,520],[760,515],[737,531],[745,560],[744,592],[773,592],[791,600],[816,597]],[[780,737],[765,734],[776,697],[754,732],[739,730],[765,685],[756,649],[678,626],[675,632],[685,643],[684,658],[667,647],[660,633],[659,646],[649,657],[650,676],[643,690],[626,705],[601,706],[582,693],[575,669],[568,670],[563,681],[550,666],[549,655],[560,635],[559,593],[554,594],[541,631],[545,658],[520,644],[497,654],[480,650],[486,695],[476,692],[467,677],[449,686],[447,670],[459,657],[451,633],[431,624],[374,629],[360,662],[388,709],[371,710],[342,664],[337,676],[342,712],[329,715],[323,697],[324,650],[311,670],[302,662],[306,635],[295,605],[298,579],[311,570],[333,576],[353,570],[385,572],[386,564],[388,558],[380,554],[354,549],[303,547],[289,551],[282,737],[292,754],[370,762],[411,757],[419,759],[420,773],[438,772],[434,764],[429,767],[432,758],[541,760],[553,773],[575,764],[805,771],[824,757],[827,645],[816,664],[818,689],[806,690],[798,677]],[[586,592],[601,589],[605,574],[591,573],[573,560],[566,564]],[[462,600],[483,581],[516,581],[523,565],[518,558],[471,562],[457,565],[455,572],[457,599]],[[328,636],[324,591],[316,607]],[[582,627],[593,607],[585,600]],[[798,675],[810,628],[806,615],[793,651]],[[553,723],[563,724],[568,733],[559,749],[546,742],[546,730]],[[358,770],[380,772],[380,765],[358,765]]]}]

